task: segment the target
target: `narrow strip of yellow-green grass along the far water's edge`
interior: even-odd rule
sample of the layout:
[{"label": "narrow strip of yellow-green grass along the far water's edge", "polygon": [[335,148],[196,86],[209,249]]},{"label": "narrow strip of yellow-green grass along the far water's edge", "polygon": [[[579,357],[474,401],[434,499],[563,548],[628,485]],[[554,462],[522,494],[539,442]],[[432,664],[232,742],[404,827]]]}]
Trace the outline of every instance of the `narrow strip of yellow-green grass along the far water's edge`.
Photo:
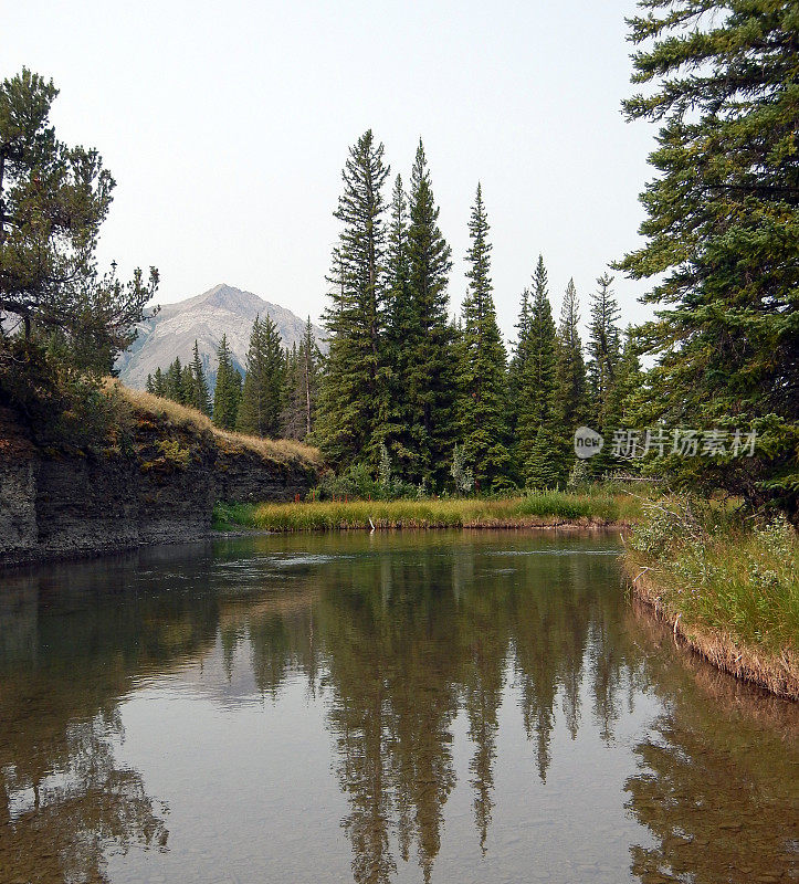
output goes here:
[{"label": "narrow strip of yellow-green grass along the far water's edge", "polygon": [[219,528],[273,532],[349,528],[500,528],[630,524],[641,503],[625,494],[546,493],[506,499],[351,501],[294,504],[219,504]]}]

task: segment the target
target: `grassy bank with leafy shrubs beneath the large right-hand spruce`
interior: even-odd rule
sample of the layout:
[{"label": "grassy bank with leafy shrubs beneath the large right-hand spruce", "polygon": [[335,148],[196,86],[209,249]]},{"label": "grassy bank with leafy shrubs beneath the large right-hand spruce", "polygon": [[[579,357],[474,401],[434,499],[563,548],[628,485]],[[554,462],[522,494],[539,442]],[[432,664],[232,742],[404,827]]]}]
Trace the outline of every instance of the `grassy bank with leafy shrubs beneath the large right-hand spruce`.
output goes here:
[{"label": "grassy bank with leafy shrubs beneath the large right-hand spruce", "polygon": [[625,567],[635,594],[694,650],[799,698],[799,540],[787,522],[653,503],[628,538]]}]

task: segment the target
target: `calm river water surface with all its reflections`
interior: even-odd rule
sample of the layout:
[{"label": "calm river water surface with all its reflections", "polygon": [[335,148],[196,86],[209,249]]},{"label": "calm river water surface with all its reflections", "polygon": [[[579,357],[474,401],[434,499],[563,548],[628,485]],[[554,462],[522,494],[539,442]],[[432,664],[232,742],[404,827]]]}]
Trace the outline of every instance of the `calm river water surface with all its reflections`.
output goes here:
[{"label": "calm river water surface with all its reflections", "polygon": [[220,540],[0,579],[0,882],[799,877],[797,706],[613,537]]}]

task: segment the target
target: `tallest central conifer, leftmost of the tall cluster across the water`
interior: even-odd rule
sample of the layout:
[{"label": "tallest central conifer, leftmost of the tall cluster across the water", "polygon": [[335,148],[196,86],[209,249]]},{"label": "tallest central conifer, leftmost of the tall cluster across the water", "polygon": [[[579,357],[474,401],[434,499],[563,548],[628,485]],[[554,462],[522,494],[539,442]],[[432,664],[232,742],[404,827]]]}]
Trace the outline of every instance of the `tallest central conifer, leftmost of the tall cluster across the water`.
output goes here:
[{"label": "tallest central conifer, leftmost of the tall cluster across the water", "polygon": [[325,312],[329,351],[316,440],[335,466],[377,466],[380,438],[379,347],[385,299],[382,188],[389,169],[371,130],[350,147],[344,192],[334,217],[341,223]]}]

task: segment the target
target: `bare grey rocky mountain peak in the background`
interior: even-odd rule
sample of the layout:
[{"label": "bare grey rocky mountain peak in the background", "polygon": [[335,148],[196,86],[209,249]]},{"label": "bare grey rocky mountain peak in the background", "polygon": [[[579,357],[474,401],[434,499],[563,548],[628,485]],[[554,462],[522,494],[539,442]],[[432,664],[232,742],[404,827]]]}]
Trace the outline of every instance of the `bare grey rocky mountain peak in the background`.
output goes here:
[{"label": "bare grey rocky mountain peak in the background", "polygon": [[[266,315],[272,318],[284,346],[299,344],[305,319],[252,292],[222,283],[196,297],[166,304],[155,316],[146,317],[138,325],[133,346],[117,360],[119,378],[128,387],[144,389],[147,375],[154,375],[159,366],[166,369],[176,356],[183,365],[191,361],[197,339],[203,367],[213,385],[217,347],[223,334],[228,336],[236,367],[243,372],[252,323],[259,314],[261,318]],[[314,326],[314,335],[320,343],[324,332]]]}]

